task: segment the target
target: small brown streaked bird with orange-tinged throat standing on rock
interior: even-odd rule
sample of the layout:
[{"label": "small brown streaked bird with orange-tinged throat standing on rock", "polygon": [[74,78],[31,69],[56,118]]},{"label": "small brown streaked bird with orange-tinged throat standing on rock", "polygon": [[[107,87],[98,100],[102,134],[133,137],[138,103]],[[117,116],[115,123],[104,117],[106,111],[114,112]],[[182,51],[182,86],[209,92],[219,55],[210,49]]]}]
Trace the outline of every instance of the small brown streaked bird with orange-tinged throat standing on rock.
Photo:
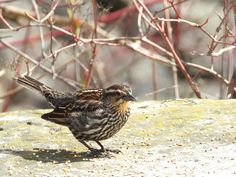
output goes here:
[{"label": "small brown streaked bird with orange-tinged throat standing on rock", "polygon": [[[127,85],[62,93],[29,76],[19,77],[17,82],[40,92],[52,105],[54,110],[41,116],[44,120],[68,127],[91,152],[110,151],[100,141],[112,137],[125,125],[130,115],[129,104],[135,101]],[[101,149],[92,148],[86,141],[96,142]]]}]

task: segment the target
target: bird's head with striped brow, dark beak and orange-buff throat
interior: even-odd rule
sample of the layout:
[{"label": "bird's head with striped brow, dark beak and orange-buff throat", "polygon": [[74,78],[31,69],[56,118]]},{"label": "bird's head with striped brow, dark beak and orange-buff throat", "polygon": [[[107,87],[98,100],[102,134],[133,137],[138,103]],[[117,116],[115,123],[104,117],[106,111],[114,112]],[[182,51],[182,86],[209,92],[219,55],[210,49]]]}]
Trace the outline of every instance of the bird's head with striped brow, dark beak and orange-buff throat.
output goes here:
[{"label": "bird's head with striped brow, dark beak and orange-buff throat", "polygon": [[129,86],[116,84],[103,90],[102,100],[119,111],[125,112],[129,108],[130,101],[136,99]]}]

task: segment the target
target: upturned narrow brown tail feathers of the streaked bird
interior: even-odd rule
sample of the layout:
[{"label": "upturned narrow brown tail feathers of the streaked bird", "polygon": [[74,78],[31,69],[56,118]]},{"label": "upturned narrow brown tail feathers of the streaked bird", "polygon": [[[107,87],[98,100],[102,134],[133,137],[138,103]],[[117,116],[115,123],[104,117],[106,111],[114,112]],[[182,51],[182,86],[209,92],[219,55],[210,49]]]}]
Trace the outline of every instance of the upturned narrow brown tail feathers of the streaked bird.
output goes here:
[{"label": "upturned narrow brown tail feathers of the streaked bird", "polygon": [[18,77],[17,82],[26,88],[33,89],[39,92],[42,92],[41,88],[42,86],[44,86],[43,83],[29,76]]}]

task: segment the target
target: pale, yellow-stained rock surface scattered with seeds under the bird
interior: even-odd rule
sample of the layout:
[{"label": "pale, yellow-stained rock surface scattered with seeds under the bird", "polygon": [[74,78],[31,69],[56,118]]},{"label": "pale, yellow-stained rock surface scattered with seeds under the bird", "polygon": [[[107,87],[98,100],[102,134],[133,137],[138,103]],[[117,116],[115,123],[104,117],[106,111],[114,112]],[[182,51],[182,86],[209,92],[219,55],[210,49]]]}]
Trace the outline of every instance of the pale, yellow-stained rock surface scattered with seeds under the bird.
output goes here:
[{"label": "pale, yellow-stained rock surface scattered with seeds under the bird", "polygon": [[0,114],[0,176],[236,176],[236,101],[137,102],[125,127],[91,157],[48,110]]}]

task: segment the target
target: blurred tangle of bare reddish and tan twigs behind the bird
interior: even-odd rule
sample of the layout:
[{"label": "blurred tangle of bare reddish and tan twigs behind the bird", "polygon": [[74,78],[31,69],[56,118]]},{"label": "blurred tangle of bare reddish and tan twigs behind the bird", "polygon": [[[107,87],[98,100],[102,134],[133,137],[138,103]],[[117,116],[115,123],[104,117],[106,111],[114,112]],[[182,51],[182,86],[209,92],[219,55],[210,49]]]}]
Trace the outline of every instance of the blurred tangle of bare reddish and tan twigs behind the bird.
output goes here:
[{"label": "blurred tangle of bare reddish and tan twigs behind the bird", "polygon": [[49,107],[14,78],[62,91],[126,83],[138,100],[235,98],[234,0],[1,0],[0,110]]}]

